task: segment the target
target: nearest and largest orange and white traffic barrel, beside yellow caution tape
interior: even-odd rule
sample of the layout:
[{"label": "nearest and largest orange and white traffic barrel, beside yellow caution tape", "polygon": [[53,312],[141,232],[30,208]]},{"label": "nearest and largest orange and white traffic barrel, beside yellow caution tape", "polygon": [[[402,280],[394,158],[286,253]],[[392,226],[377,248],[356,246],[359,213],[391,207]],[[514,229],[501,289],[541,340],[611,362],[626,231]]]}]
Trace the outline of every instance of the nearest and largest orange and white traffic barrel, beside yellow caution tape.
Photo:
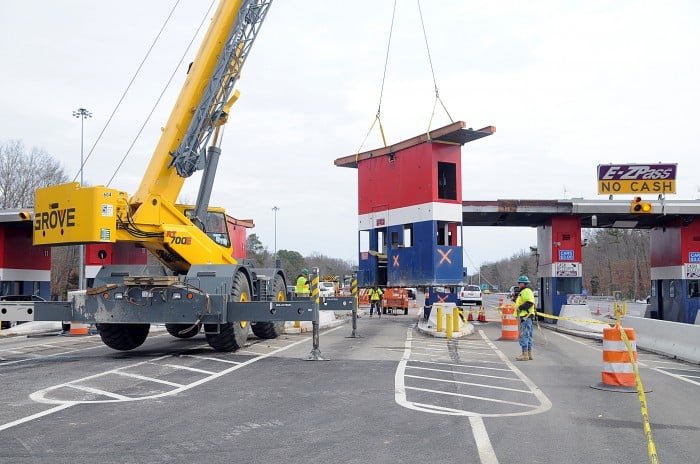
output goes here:
[{"label": "nearest and largest orange and white traffic barrel, beside yellow caution tape", "polygon": [[620,326],[603,328],[602,381],[608,386],[634,388],[636,383],[632,363],[637,362],[637,342],[634,329],[624,329],[624,331],[632,347],[632,357],[622,340]]}]

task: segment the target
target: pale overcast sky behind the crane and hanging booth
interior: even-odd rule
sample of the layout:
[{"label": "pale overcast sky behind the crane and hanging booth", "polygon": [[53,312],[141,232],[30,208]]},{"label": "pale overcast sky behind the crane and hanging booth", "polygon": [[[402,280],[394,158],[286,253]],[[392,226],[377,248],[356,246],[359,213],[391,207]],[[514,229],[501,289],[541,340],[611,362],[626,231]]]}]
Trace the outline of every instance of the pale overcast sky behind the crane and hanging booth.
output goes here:
[{"label": "pale overcast sky behind the crane and hanging booth", "polygon": [[[71,179],[175,0],[0,0],[0,143],[46,150]],[[375,128],[393,0],[276,0],[238,89],[212,204],[253,219],[277,249],[357,261],[357,171],[336,158],[382,146]],[[133,193],[210,6],[181,0],[86,162],[86,184]],[[676,199],[700,198],[700,2],[423,0],[440,97],[453,120],[497,132],[462,149],[465,200],[598,196],[604,163],[678,163]],[[213,11],[213,9],[212,9]],[[417,3],[399,0],[381,106],[390,144],[431,122],[434,85]],[[116,174],[115,174],[116,172]],[[198,178],[181,199],[194,201]],[[304,206],[300,207],[299,202]],[[536,244],[534,229],[465,228],[465,265]]]}]

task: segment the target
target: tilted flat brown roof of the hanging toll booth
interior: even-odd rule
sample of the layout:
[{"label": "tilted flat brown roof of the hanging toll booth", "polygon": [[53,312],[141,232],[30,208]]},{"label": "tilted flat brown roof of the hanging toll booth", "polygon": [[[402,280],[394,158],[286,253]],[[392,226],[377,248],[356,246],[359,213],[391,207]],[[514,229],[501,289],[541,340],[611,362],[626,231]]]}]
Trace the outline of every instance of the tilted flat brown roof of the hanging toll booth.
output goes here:
[{"label": "tilted flat brown roof of the hanging toll booth", "polygon": [[401,150],[420,145],[426,142],[451,143],[464,145],[465,143],[478,140],[482,137],[489,136],[496,132],[494,126],[486,126],[481,129],[474,130],[464,128],[464,121],[457,121],[448,126],[440,127],[428,133],[417,135],[408,140],[390,145],[388,147],[377,148],[374,150],[357,153],[355,155],[344,156],[335,160],[334,164],[343,168],[356,168],[360,161],[376,158],[378,156],[387,156],[397,153]]}]

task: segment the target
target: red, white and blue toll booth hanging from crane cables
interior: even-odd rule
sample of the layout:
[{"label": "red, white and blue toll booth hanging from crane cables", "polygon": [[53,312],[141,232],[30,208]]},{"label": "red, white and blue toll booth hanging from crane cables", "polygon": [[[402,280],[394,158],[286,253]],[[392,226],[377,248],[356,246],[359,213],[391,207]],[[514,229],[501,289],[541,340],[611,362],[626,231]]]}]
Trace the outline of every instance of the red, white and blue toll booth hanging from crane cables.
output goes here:
[{"label": "red, white and blue toll booth hanging from crane cables", "polygon": [[335,160],[358,171],[359,286],[463,283],[462,145],[496,131],[464,126]]}]

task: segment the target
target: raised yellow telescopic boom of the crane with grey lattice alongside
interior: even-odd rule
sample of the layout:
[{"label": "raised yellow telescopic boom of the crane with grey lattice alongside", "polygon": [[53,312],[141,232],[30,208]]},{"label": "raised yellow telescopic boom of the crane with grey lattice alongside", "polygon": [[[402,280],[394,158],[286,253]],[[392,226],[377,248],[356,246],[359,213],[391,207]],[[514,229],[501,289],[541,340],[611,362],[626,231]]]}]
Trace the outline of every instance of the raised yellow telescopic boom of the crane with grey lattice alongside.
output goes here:
[{"label": "raised yellow telescopic boom of the crane with grey lattice alongside", "polygon": [[271,0],[221,2],[132,204],[143,203],[149,195],[176,201],[184,179],[204,166],[206,146],[237,98],[231,96],[233,87],[270,4]]}]

